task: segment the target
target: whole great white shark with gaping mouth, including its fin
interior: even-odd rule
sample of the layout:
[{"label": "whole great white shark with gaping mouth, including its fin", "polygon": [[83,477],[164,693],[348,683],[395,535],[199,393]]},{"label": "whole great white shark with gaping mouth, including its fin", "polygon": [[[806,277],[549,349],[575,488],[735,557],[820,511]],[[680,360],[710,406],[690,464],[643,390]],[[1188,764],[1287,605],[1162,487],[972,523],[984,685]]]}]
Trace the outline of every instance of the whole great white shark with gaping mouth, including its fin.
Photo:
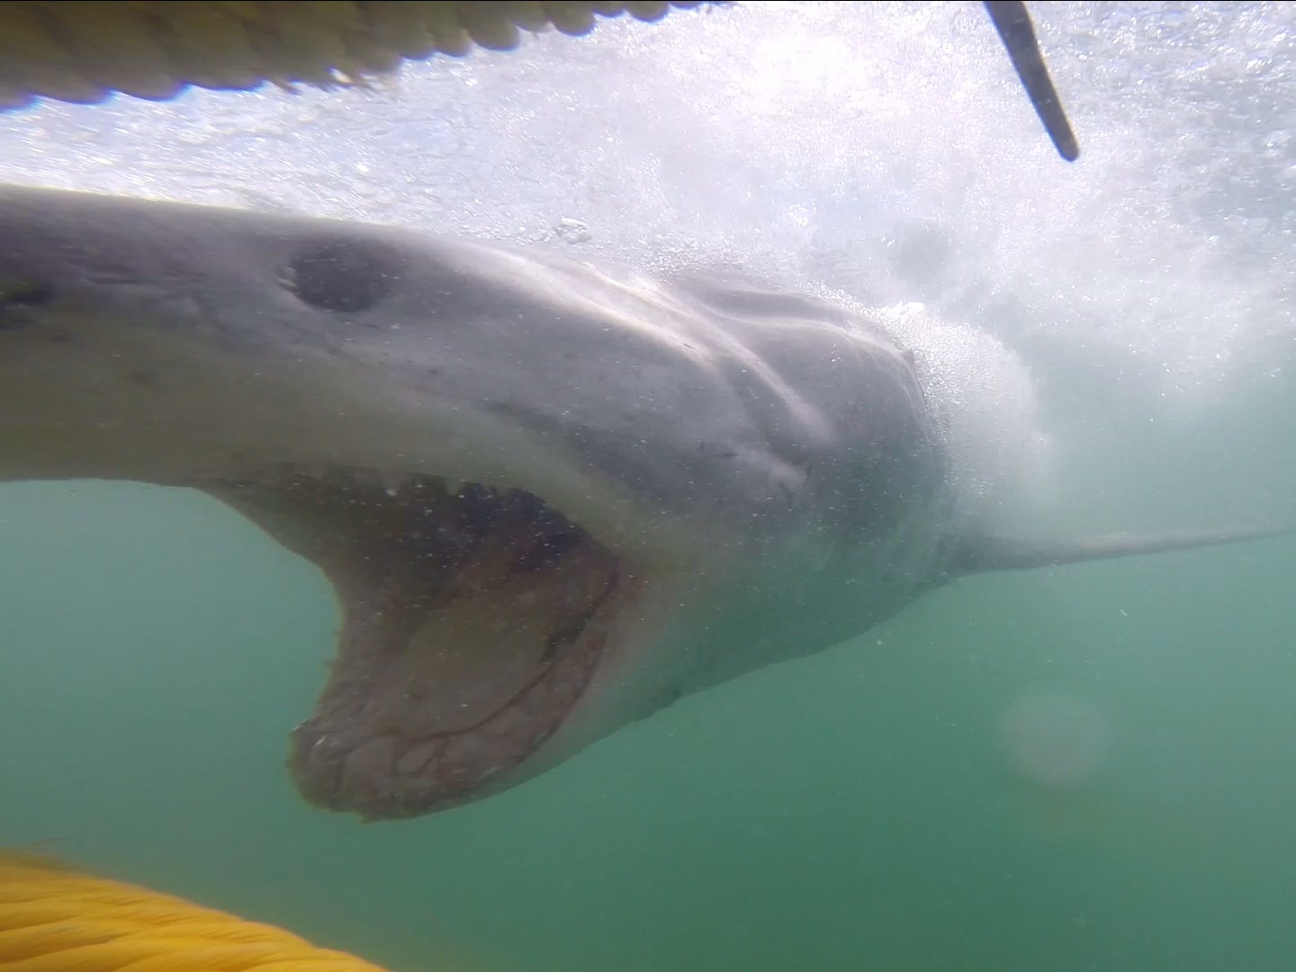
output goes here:
[{"label": "whole great white shark with gaping mouth, including its fin", "polygon": [[828,298],[0,187],[0,481],[202,490],[342,629],[289,767],[367,819],[511,787],[966,574],[1271,531],[995,535],[912,350]]}]

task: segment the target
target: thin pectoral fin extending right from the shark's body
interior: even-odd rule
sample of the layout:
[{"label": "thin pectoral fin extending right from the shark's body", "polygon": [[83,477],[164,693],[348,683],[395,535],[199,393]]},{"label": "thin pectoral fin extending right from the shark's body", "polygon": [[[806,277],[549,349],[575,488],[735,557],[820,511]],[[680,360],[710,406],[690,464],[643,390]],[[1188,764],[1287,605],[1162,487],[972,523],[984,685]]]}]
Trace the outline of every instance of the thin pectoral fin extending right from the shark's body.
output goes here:
[{"label": "thin pectoral fin extending right from the shark's body", "polygon": [[989,570],[1081,564],[1142,553],[1165,553],[1222,543],[1242,543],[1296,533],[1296,527],[1248,530],[1183,531],[1164,534],[1098,534],[1065,540],[978,535],[966,540],[951,559],[949,575],[978,574]]}]

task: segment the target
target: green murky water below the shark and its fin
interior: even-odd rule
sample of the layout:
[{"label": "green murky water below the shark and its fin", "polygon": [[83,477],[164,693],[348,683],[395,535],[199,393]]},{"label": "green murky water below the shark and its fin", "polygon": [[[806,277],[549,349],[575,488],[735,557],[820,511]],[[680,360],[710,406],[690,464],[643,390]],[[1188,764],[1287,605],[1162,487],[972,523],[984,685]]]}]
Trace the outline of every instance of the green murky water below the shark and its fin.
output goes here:
[{"label": "green murky water below the shark and its fin", "polygon": [[[394,969],[1287,969],[1291,564],[964,582],[485,804],[364,827],[280,769],[332,647],[311,566],[197,494],[8,486],[0,835]],[[1023,771],[1032,699],[1081,784]]]}]

